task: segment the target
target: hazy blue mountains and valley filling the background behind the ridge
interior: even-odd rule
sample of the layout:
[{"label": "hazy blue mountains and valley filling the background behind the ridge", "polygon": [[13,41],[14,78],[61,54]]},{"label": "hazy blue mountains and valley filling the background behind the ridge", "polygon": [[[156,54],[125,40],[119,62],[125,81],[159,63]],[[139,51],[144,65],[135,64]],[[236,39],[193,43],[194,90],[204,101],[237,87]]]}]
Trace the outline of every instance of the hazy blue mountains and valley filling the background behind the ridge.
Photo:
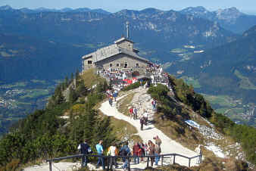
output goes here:
[{"label": "hazy blue mountains and valley filling the background behind the ridge", "polygon": [[236,8],[66,10],[0,10],[2,126],[44,107],[56,85],[47,80],[81,70],[81,56],[120,38],[126,21],[142,57],[183,78],[217,112],[255,126],[255,31],[251,26],[256,17]]}]

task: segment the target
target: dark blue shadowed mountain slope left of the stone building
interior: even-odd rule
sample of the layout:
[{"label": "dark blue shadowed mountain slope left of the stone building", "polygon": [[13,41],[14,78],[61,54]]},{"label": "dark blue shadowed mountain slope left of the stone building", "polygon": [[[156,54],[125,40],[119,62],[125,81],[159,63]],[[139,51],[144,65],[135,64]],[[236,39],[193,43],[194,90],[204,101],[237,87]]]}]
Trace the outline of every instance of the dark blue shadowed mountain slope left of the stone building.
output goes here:
[{"label": "dark blue shadowed mountain slope left of the stone building", "polygon": [[79,68],[84,52],[61,43],[0,34],[0,78],[5,82],[64,78]]}]

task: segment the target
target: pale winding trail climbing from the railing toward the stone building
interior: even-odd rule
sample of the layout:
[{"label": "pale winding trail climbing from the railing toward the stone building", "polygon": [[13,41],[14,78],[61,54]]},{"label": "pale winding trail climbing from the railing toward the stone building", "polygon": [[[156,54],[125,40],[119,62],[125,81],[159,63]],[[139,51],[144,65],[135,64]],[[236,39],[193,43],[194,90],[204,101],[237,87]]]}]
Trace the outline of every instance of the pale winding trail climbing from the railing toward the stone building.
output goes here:
[{"label": "pale winding trail climbing from the railing toward the stone building", "polygon": [[[133,97],[132,104],[136,106],[138,109],[139,115],[142,114],[144,110],[147,110],[148,114],[148,120],[151,120],[152,115],[154,112],[151,110],[151,97],[146,93],[147,89],[135,89],[131,92],[136,92],[136,95]],[[117,98],[117,101],[120,101],[120,98]],[[123,113],[120,113],[117,110],[116,105],[113,105],[112,107],[108,104],[108,101],[105,101],[101,104],[101,107],[99,108],[102,113],[109,117],[115,117],[118,120],[125,120],[126,122],[130,123],[131,125],[135,126],[139,135],[144,142],[148,142],[148,140],[153,140],[153,137],[155,135],[158,135],[159,138],[161,138],[162,144],[161,144],[161,154],[181,154],[186,157],[194,157],[198,154],[195,153],[195,151],[191,151],[188,148],[183,147],[176,141],[173,141],[171,138],[167,137],[167,135],[164,135],[161,130],[157,129],[153,124],[148,124],[148,126],[144,126],[144,130],[140,130],[140,123],[139,120],[131,120],[130,117],[127,117]],[[172,161],[169,159],[169,161],[164,160],[164,163],[172,163]],[[179,163],[183,166],[189,165],[189,160],[183,157],[176,157],[175,163]],[[191,160],[191,166],[196,165],[196,159]],[[140,166],[135,165],[137,169],[144,169],[145,164],[140,164]],[[131,166],[131,169],[133,169],[133,165]]]}]

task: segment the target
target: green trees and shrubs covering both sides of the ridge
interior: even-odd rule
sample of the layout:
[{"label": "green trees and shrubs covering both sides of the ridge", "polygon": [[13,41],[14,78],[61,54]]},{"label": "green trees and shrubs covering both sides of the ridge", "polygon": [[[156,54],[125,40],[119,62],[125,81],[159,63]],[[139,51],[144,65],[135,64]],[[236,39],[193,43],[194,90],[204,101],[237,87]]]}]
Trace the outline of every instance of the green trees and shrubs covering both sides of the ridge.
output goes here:
[{"label": "green trees and shrubs covering both sides of the ridge", "polygon": [[[76,87],[73,84],[74,81],[76,81]],[[227,117],[215,113],[208,102],[201,95],[196,94],[192,86],[187,86],[182,79],[170,76],[170,82],[176,99],[210,120],[220,132],[230,135],[241,143],[248,160],[256,163],[254,154],[256,130],[254,128],[236,125]],[[95,84],[97,84],[95,89],[89,91],[89,88]],[[64,90],[67,88],[70,89],[70,93],[64,96],[66,95]],[[81,76],[76,74],[74,79],[66,79],[55,89],[55,94],[49,99],[45,109],[36,110],[27,118],[20,120],[12,127],[11,132],[0,140],[2,169],[17,168],[23,163],[35,162],[39,158],[74,154],[76,145],[83,138],[88,138],[92,147],[95,147],[99,139],[105,141],[105,148],[111,142],[118,141],[111,127],[110,118],[100,117],[95,110],[95,104],[105,98],[106,89],[108,89],[107,82],[93,75],[92,71]],[[151,86],[148,92],[161,104],[158,112],[164,113],[170,119],[186,117],[180,116],[185,111],[183,108],[173,106],[173,99],[168,95],[166,86]],[[61,116],[69,119],[64,120]],[[180,124],[181,131],[183,121],[176,120],[176,123]]]}]

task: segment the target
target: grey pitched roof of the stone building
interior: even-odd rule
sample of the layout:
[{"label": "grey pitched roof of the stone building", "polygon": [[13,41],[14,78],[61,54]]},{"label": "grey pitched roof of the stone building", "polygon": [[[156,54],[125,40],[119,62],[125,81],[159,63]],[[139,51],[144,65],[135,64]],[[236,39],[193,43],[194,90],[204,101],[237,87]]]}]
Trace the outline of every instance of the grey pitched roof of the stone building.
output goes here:
[{"label": "grey pitched roof of the stone building", "polygon": [[[116,42],[120,42],[123,40],[127,40],[127,39],[121,38],[121,39],[117,40]],[[117,54],[128,54],[128,55],[132,56],[133,58],[138,58],[139,60],[150,62],[147,59],[142,58],[138,54],[136,54],[136,51],[130,51],[126,48],[121,48],[120,46],[117,45],[117,43],[115,43],[113,45],[109,45],[105,48],[99,48],[97,51],[92,52],[91,54],[86,54],[83,56],[83,60],[86,60],[87,58],[92,58],[93,63],[96,63],[98,61],[102,61],[107,58],[111,58],[112,56],[117,55]]]}]

